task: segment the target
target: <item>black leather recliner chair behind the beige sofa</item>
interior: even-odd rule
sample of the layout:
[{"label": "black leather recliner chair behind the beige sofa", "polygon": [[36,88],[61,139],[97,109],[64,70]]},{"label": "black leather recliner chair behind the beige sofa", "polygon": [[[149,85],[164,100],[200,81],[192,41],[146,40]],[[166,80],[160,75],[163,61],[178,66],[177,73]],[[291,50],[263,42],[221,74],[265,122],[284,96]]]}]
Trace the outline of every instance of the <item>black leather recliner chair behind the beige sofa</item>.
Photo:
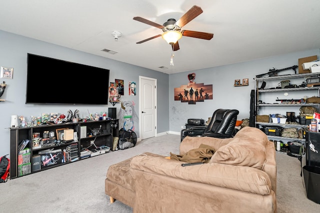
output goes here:
[{"label": "black leather recliner chair behind the beige sofa", "polygon": [[232,138],[236,133],[234,127],[238,114],[239,111],[236,109],[217,109],[208,126],[182,129],[180,139],[182,141],[186,136]]}]

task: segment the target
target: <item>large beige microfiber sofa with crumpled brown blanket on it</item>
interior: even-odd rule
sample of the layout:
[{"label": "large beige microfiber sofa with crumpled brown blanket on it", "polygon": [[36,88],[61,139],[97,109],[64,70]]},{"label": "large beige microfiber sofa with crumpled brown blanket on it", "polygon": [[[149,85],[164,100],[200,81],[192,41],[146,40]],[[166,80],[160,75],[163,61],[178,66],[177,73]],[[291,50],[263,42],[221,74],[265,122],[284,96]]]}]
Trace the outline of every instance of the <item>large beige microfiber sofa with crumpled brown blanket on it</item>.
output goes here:
[{"label": "large beige microfiber sofa with crumpled brown blanket on it", "polygon": [[244,127],[233,138],[186,137],[179,154],[200,144],[215,150],[206,164],[181,167],[145,153],[110,166],[106,195],[134,213],[276,212],[275,149],[262,131]]}]

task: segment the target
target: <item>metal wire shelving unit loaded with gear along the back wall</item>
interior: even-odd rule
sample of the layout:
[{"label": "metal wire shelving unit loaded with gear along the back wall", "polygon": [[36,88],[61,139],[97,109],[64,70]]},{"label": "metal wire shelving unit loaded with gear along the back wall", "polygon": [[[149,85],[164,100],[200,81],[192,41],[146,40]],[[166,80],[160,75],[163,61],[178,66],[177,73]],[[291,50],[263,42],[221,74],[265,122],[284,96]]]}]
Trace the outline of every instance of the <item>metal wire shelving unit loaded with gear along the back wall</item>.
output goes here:
[{"label": "metal wire shelving unit loaded with gear along the back wall", "polygon": [[280,142],[280,151],[290,152],[290,142],[304,144],[306,132],[320,129],[320,119],[311,125],[320,118],[320,73],[283,74],[254,78],[254,118],[275,149]]}]

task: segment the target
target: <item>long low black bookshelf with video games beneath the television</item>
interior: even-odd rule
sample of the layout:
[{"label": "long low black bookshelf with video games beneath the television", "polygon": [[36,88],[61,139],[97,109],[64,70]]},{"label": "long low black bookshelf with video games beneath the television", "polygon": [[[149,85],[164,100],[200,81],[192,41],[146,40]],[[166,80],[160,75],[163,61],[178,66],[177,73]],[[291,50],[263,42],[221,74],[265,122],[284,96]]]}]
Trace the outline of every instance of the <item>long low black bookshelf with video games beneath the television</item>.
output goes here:
[{"label": "long low black bookshelf with video games beneath the television", "polygon": [[110,151],[118,119],[10,128],[10,179]]}]

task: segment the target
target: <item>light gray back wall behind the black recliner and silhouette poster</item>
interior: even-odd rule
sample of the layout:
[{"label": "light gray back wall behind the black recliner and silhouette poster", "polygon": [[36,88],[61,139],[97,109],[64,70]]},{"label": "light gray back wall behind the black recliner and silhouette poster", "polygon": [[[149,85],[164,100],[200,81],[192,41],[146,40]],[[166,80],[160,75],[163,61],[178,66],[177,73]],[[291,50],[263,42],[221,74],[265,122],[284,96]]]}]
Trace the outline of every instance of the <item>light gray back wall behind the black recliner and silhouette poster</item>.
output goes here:
[{"label": "light gray back wall behind the black recliner and silhouette poster", "polygon": [[[169,123],[171,132],[180,132],[188,118],[202,118],[207,121],[212,116],[215,109],[228,108],[239,110],[238,120],[249,118],[250,112],[250,92],[254,89],[255,75],[266,73],[269,69],[282,69],[293,65],[298,65],[298,58],[312,55],[319,55],[319,49],[311,49],[290,54],[276,55],[269,58],[248,61],[243,63],[212,67],[193,71],[195,73],[195,83],[212,84],[213,99],[196,102],[189,105],[174,101],[174,88],[188,84],[187,75],[192,72],[182,72],[171,74],[169,77]],[[208,58],[214,60],[214,58]],[[297,70],[298,73],[298,70]],[[294,74],[294,71],[286,70],[279,72],[279,75]],[[249,79],[248,86],[233,86],[235,79]],[[268,87],[266,87],[268,88]],[[284,96],[283,96],[284,97]],[[302,98],[302,97],[300,97]],[[274,112],[276,113],[276,112]]]}]

